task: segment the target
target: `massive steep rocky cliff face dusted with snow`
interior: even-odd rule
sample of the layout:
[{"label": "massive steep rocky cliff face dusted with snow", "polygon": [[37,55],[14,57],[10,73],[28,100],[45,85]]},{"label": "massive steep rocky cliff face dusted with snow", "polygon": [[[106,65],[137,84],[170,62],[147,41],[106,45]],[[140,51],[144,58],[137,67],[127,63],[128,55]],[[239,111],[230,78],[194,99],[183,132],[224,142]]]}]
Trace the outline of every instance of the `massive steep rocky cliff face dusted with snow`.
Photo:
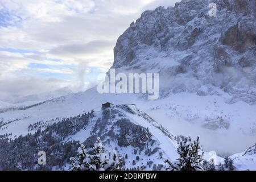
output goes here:
[{"label": "massive steep rocky cliff face dusted with snow", "polygon": [[256,2],[216,1],[216,17],[208,14],[211,2],[145,11],[119,37],[112,68],[160,73],[162,97],[228,93],[229,103],[255,104]]}]

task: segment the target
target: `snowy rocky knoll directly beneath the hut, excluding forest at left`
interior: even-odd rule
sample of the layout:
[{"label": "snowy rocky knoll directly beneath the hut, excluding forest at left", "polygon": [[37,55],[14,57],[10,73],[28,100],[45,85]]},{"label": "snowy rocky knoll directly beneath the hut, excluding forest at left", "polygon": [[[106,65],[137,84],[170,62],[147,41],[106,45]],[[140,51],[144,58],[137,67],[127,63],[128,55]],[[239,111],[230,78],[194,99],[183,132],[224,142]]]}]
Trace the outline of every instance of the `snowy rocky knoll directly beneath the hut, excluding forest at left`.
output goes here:
[{"label": "snowy rocky knoll directly beneath the hut, excluding forest at left", "polygon": [[[134,113],[131,114],[122,108],[133,110]],[[133,165],[133,160],[138,163],[135,159],[136,156],[143,159],[143,161],[139,161],[139,166],[146,166],[145,169],[149,170],[152,170],[154,166],[151,164],[151,168],[148,168],[147,163],[151,163],[150,161],[154,164],[158,163],[156,166],[164,166],[160,155],[175,160],[177,158],[177,142],[152,125],[154,122],[155,125],[160,126],[158,123],[154,120],[148,121],[139,116],[141,114],[143,112],[135,105],[117,105],[97,111],[92,122],[88,123],[88,127],[68,140],[75,139],[81,142],[85,140],[83,142],[85,146],[90,146],[97,137],[100,137],[107,150],[113,151],[115,148],[122,156],[128,155],[129,160],[126,160],[125,168],[138,167]],[[138,151],[134,154],[134,150]]]}]

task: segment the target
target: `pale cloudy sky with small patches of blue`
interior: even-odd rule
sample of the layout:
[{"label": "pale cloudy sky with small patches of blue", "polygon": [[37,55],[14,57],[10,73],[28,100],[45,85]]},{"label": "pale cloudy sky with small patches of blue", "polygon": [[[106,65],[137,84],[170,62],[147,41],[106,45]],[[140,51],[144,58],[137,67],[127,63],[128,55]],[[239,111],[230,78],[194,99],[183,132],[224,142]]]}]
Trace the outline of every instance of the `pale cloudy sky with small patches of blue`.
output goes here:
[{"label": "pale cloudy sky with small patches of blue", "polygon": [[96,84],[119,35],[177,0],[0,0],[0,101]]}]

